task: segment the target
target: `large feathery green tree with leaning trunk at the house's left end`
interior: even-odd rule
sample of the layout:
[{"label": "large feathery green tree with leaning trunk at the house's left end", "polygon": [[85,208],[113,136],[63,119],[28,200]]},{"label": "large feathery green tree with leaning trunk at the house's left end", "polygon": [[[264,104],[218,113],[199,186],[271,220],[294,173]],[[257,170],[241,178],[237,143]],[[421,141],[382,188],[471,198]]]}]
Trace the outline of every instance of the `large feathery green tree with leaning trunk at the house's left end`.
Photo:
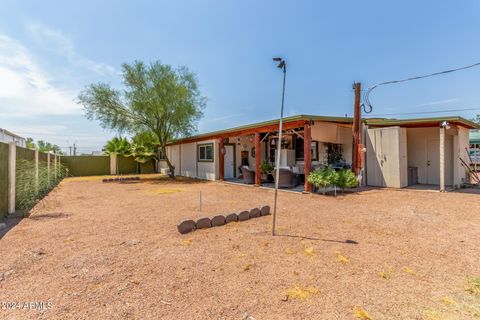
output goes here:
[{"label": "large feathery green tree with leaning trunk at the house's left end", "polygon": [[157,137],[170,175],[175,168],[167,157],[168,142],[191,135],[203,115],[206,98],[195,75],[186,67],[141,61],[122,65],[124,90],[104,83],[89,85],[78,96],[86,117],[119,132],[150,131]]}]

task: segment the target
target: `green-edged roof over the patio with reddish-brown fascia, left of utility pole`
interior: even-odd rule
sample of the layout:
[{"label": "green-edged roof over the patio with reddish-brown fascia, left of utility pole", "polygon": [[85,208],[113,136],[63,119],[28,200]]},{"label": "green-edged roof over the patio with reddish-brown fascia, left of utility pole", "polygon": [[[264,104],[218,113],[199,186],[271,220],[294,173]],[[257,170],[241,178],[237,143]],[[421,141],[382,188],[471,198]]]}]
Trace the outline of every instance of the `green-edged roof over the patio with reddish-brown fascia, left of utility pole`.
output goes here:
[{"label": "green-edged roof over the patio with reddish-brown fascia, left of utility pole", "polygon": [[[283,118],[283,129],[292,129],[303,126],[308,121],[333,122],[339,124],[351,124],[353,118],[348,117],[330,117],[330,116],[314,116],[314,115],[297,115]],[[244,126],[234,127],[225,130],[213,131],[191,137],[178,139],[169,145],[196,142],[201,140],[215,139],[220,137],[232,137],[236,135],[247,135],[255,132],[270,132],[278,130],[280,119],[252,123]]]}]

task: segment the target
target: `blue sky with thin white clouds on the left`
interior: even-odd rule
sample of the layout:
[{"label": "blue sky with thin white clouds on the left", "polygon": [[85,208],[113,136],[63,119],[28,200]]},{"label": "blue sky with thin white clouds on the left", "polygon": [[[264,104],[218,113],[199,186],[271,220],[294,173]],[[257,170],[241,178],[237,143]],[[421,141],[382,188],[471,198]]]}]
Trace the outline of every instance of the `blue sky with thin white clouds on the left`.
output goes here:
[{"label": "blue sky with thin white clouds on the left", "polygon": [[[480,2],[0,1],[0,127],[80,152],[115,133],[74,99],[92,82],[120,87],[135,59],[186,65],[208,98],[199,131],[286,115],[352,114],[352,83],[421,75],[480,61]],[[480,68],[382,87],[372,115],[472,109]],[[65,149],[66,150],[66,149]]]}]

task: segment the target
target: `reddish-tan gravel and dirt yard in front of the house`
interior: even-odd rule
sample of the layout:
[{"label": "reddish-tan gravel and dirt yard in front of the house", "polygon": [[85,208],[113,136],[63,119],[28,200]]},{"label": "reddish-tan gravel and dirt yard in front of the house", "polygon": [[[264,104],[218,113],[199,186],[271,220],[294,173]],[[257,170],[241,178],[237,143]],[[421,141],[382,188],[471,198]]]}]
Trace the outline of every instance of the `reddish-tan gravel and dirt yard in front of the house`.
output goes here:
[{"label": "reddish-tan gravel and dirt yard in front of the house", "polygon": [[480,195],[281,192],[279,236],[272,216],[177,232],[272,203],[217,182],[67,179],[0,240],[0,318],[480,319]]}]

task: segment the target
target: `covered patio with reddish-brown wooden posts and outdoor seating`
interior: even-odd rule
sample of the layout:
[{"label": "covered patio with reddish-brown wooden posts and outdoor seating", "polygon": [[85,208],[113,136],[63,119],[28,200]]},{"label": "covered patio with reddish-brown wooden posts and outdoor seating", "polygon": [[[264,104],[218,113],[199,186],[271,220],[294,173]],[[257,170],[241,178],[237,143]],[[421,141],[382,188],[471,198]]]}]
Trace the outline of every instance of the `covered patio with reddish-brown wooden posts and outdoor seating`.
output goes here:
[{"label": "covered patio with reddish-brown wooden posts and outdoor seating", "polygon": [[286,118],[279,141],[278,121],[216,137],[219,147],[219,180],[274,186],[280,148],[279,186],[311,192],[308,174],[321,166],[349,168],[352,157],[350,118],[297,116]]}]

